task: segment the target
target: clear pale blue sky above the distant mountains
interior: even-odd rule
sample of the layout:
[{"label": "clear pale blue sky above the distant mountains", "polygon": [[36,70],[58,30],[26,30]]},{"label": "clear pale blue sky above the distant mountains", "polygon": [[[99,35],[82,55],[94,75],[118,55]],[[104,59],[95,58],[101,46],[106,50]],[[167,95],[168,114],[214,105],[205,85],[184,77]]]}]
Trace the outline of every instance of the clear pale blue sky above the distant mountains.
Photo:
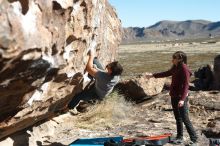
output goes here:
[{"label": "clear pale blue sky above the distant mountains", "polygon": [[123,27],[148,27],[161,20],[220,21],[220,0],[108,0]]}]

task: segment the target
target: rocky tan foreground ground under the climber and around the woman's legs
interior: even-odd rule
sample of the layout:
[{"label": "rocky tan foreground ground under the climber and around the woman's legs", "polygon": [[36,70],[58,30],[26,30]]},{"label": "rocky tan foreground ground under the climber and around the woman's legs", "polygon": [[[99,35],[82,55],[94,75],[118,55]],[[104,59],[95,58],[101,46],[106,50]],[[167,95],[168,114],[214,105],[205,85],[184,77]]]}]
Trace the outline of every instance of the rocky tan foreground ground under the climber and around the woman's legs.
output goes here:
[{"label": "rocky tan foreground ground under the climber and around the woman's legs", "polygon": [[[210,92],[192,91],[191,95],[190,99],[205,96],[212,101],[219,101],[220,98],[220,92],[211,95]],[[78,138],[114,136],[131,138],[164,133],[172,133],[175,136],[175,120],[167,91],[139,104],[128,103],[117,94],[113,96],[102,104],[91,106],[87,112],[76,114],[71,110],[45,123],[16,133],[1,141],[0,145],[63,146],[69,145]],[[190,119],[199,136],[198,145],[208,146],[209,141],[202,131],[208,128],[207,125],[212,119],[220,117],[220,112],[207,110],[202,106],[191,104],[189,106]],[[186,130],[184,130],[184,140],[185,143],[189,141]]]}]

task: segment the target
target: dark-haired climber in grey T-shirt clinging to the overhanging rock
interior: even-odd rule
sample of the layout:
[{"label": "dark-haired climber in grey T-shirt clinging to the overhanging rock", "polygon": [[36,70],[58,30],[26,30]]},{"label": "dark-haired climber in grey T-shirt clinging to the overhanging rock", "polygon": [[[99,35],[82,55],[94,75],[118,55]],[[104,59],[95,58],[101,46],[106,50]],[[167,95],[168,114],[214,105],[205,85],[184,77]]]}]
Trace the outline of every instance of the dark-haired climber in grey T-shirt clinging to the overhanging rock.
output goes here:
[{"label": "dark-haired climber in grey T-shirt clinging to the overhanging rock", "polygon": [[95,57],[94,49],[90,49],[88,55],[89,59],[85,71],[95,78],[95,83],[88,90],[84,90],[75,95],[68,105],[69,109],[76,107],[80,100],[103,100],[104,97],[112,92],[123,72],[123,68],[118,61],[109,63],[104,70],[98,59]]}]

